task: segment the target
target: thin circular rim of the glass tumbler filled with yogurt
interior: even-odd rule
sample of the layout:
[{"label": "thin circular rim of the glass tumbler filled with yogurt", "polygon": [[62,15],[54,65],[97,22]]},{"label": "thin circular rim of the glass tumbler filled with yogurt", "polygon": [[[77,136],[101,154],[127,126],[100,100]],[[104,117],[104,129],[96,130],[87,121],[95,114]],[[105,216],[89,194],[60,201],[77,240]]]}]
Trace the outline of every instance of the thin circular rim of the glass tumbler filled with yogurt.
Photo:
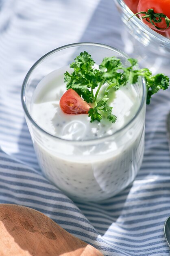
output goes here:
[{"label": "thin circular rim of the glass tumbler filled with yogurt", "polygon": [[29,79],[29,77],[31,76],[31,73],[33,72],[33,70],[35,70],[35,68],[42,62],[44,61],[44,59],[46,59],[48,56],[54,54],[55,52],[59,52],[60,50],[63,50],[63,49],[67,49],[67,48],[70,48],[70,47],[77,47],[77,46],[87,46],[87,45],[91,45],[91,46],[98,46],[98,47],[104,47],[104,48],[107,48],[107,49],[111,49],[113,50],[114,52],[117,52],[119,54],[121,54],[122,56],[124,56],[125,58],[129,58],[129,56],[127,54],[125,54],[124,52],[122,52],[121,50],[118,50],[116,49],[115,47],[112,47],[112,46],[109,46],[109,45],[105,45],[105,44],[100,44],[100,43],[72,43],[72,44],[68,44],[68,45],[64,45],[64,46],[61,46],[61,47],[58,47],[48,53],[46,53],[44,56],[42,56],[41,58],[39,58],[34,64],[33,66],[30,68],[30,70],[28,70],[28,73],[26,74],[25,78],[24,78],[24,81],[22,83],[22,89],[21,89],[21,101],[22,101],[22,107],[24,109],[24,113],[26,115],[26,117],[29,119],[29,121],[31,121],[31,123],[33,124],[33,126],[35,126],[38,130],[40,130],[41,132],[43,132],[44,134],[50,136],[51,138],[54,138],[54,139],[59,139],[60,141],[65,141],[66,143],[74,143],[74,144],[82,144],[82,143],[92,143],[92,142],[98,142],[98,141],[105,141],[115,135],[117,135],[118,133],[122,132],[123,130],[125,130],[136,118],[137,116],[139,115],[139,113],[141,112],[142,110],[142,107],[145,103],[145,99],[146,99],[146,83],[145,83],[145,80],[144,78],[141,78],[141,83],[142,83],[142,89],[143,89],[143,92],[142,92],[142,100],[141,100],[141,103],[139,105],[139,108],[137,109],[137,112],[136,114],[134,115],[134,117],[132,119],[130,119],[130,121],[128,123],[126,123],[124,126],[122,126],[120,129],[116,130],[115,132],[113,132],[111,135],[107,135],[105,137],[100,137],[100,138],[94,138],[94,139],[88,139],[88,140],[70,140],[70,139],[63,139],[61,137],[57,137],[55,135],[52,135],[51,133],[47,132],[46,130],[44,130],[43,128],[41,128],[34,120],[33,118],[31,117],[28,109],[27,109],[27,106],[26,106],[26,98],[25,98],[25,88],[26,88],[26,85],[27,85],[27,81]]}]

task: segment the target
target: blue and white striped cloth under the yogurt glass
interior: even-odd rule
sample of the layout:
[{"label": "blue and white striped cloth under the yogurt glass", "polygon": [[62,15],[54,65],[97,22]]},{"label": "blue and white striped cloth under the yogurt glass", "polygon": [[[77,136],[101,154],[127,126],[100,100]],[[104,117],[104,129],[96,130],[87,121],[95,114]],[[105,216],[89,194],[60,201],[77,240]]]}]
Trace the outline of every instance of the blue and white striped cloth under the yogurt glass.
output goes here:
[{"label": "blue and white striped cloth under the yogurt glass", "polygon": [[75,204],[43,177],[22,111],[22,81],[39,57],[83,41],[124,50],[122,31],[112,0],[0,0],[0,202],[45,213],[105,256],[170,256],[163,236],[170,215],[170,90],[147,107],[144,161],[133,185],[102,204]]}]

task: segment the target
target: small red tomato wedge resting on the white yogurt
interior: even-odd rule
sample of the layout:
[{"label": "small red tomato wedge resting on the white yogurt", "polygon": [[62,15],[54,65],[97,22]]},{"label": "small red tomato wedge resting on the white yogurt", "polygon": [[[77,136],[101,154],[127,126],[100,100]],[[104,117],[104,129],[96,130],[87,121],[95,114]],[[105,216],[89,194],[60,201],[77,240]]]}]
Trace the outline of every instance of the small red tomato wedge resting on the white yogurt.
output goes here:
[{"label": "small red tomato wedge resting on the white yogurt", "polygon": [[90,106],[73,89],[67,90],[60,99],[60,108],[66,114],[88,114]]}]

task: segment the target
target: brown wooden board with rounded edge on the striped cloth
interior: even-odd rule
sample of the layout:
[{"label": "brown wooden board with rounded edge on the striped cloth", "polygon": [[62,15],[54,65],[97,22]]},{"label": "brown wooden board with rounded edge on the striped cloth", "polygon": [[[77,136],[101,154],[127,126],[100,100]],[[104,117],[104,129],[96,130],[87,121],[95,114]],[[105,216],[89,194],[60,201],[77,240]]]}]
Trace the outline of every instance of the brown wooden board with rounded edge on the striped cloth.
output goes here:
[{"label": "brown wooden board with rounded edge on the striped cloth", "polygon": [[103,256],[39,211],[0,204],[0,256]]}]

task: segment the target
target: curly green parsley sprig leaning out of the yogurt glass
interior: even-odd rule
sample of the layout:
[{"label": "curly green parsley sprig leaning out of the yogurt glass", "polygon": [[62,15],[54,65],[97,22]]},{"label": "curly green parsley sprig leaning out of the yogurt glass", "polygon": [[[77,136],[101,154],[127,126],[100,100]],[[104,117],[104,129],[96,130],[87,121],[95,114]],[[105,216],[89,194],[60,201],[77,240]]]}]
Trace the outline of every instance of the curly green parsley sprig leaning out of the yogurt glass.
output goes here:
[{"label": "curly green parsley sprig leaning out of the yogurt glass", "polygon": [[[128,83],[135,84],[139,76],[142,76],[146,80],[147,104],[150,103],[153,94],[160,89],[166,90],[168,88],[168,76],[164,74],[152,76],[152,72],[147,68],[134,69],[137,64],[136,59],[129,58],[128,61],[129,67],[124,67],[119,58],[106,57],[99,65],[99,69],[96,69],[91,55],[87,52],[81,52],[70,64],[74,71],[71,74],[68,71],[64,74],[67,90],[72,88],[87,103],[92,103],[93,107],[89,110],[90,122],[100,121],[104,116],[112,123],[116,122],[117,117],[113,115],[113,107],[108,104],[108,94],[111,88],[118,90],[120,86],[125,86]],[[98,97],[98,93],[104,84],[106,86],[101,99]],[[94,94],[95,88],[96,93]]]}]

